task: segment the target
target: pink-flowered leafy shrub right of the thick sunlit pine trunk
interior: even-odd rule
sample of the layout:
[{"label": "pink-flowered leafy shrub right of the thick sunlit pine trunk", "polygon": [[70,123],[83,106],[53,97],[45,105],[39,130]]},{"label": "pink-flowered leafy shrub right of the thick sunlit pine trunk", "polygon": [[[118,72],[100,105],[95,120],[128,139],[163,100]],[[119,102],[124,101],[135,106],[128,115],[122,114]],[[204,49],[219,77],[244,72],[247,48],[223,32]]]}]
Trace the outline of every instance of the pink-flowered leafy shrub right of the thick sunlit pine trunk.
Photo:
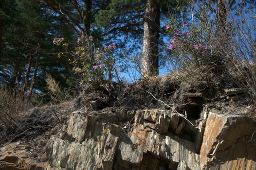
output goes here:
[{"label": "pink-flowered leafy shrub right of the thick sunlit pine trunk", "polygon": [[167,47],[171,54],[169,60],[175,68],[193,67],[209,71],[221,67],[226,37],[216,30],[216,10],[207,2],[198,6],[193,4],[191,10],[195,15],[188,21],[172,17],[171,22],[166,23],[165,29],[170,35]]}]

